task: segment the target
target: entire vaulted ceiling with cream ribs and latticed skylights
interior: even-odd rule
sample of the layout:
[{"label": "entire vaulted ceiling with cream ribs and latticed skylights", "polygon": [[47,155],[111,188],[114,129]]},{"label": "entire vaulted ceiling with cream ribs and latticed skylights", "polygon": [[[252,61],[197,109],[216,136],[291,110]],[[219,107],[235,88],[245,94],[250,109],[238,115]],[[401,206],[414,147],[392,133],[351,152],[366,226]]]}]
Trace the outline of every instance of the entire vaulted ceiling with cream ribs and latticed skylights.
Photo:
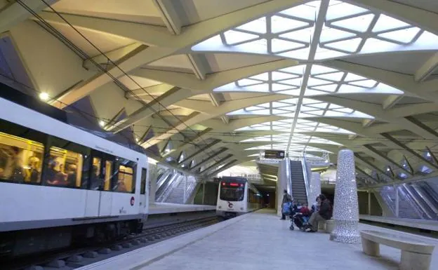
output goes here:
[{"label": "entire vaulted ceiling with cream ribs and latticed skylights", "polygon": [[348,147],[361,184],[419,179],[438,167],[438,5],[405,2],[11,1],[0,72],[196,175]]}]

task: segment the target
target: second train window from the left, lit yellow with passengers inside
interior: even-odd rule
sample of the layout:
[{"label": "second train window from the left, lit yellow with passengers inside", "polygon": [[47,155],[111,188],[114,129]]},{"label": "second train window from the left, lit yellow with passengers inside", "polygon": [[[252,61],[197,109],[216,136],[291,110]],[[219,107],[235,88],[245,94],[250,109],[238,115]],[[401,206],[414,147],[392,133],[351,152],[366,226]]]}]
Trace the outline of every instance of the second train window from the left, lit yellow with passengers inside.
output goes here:
[{"label": "second train window from the left, lit yellow with passengers inside", "polygon": [[60,187],[81,187],[83,164],[82,154],[51,147],[44,173],[46,183]]}]

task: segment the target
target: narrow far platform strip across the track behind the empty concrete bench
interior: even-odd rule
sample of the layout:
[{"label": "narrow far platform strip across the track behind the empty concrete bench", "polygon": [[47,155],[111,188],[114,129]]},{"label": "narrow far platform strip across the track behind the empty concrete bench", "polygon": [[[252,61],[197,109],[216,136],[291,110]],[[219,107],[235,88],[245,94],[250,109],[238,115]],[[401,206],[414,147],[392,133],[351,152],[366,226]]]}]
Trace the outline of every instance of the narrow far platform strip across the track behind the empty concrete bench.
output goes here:
[{"label": "narrow far platform strip across the track behind the empty concrete bench", "polygon": [[401,217],[380,217],[376,215],[360,215],[359,219],[368,220],[371,222],[380,222],[383,224],[393,224],[403,227],[410,227],[416,229],[425,229],[430,231],[438,231],[437,220],[413,220],[410,218]]}]

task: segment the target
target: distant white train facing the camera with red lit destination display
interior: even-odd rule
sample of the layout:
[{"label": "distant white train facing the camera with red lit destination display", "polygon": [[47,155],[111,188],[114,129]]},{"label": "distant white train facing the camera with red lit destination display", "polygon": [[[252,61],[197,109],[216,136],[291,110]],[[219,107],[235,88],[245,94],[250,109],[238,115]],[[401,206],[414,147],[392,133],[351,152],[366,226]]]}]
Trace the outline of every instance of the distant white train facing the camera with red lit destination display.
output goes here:
[{"label": "distant white train facing the camera with red lit destination display", "polygon": [[236,217],[263,208],[263,197],[244,177],[222,177],[219,183],[216,214]]}]

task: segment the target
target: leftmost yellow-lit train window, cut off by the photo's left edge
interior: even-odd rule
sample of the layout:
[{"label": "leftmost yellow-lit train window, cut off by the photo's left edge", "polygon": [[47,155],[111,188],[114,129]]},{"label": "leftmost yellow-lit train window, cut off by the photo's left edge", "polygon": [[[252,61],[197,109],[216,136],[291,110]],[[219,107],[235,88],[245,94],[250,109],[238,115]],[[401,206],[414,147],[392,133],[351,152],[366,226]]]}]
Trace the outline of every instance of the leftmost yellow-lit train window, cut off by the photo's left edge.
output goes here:
[{"label": "leftmost yellow-lit train window, cut off by the photo's left edge", "polygon": [[43,154],[40,142],[0,132],[0,180],[41,182]]}]

